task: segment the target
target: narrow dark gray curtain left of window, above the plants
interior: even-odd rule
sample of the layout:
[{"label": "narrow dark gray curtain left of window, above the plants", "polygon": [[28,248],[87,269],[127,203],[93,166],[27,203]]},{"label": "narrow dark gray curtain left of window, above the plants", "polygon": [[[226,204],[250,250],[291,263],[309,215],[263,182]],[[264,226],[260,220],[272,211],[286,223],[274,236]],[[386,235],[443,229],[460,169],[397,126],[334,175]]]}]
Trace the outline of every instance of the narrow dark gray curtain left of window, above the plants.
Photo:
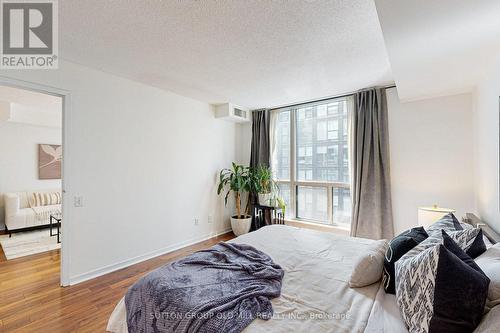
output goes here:
[{"label": "narrow dark gray curtain left of window, above the plants", "polygon": [[270,166],[269,110],[252,112],[252,150],[250,166]]}]

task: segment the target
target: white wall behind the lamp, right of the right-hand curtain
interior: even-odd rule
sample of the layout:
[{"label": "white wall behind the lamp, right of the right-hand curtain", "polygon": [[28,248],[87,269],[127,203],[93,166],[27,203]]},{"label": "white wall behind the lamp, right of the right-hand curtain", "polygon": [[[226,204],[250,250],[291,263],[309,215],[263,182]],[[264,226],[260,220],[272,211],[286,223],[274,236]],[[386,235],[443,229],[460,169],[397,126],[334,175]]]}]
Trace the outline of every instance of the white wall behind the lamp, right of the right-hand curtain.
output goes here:
[{"label": "white wall behind the lamp, right of the right-hand curtain", "polygon": [[475,211],[472,96],[401,103],[387,91],[396,234],[417,225],[417,207]]}]

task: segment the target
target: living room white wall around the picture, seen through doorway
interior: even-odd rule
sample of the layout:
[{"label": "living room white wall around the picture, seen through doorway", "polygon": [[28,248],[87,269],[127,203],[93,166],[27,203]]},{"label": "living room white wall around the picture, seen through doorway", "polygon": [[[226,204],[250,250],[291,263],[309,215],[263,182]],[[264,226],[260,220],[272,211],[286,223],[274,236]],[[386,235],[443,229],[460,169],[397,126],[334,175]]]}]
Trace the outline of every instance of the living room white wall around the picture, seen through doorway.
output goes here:
[{"label": "living room white wall around the picture, seen through doorway", "polygon": [[38,179],[38,144],[61,144],[61,129],[0,123],[0,229],[5,228],[3,193],[60,188],[60,179]]}]

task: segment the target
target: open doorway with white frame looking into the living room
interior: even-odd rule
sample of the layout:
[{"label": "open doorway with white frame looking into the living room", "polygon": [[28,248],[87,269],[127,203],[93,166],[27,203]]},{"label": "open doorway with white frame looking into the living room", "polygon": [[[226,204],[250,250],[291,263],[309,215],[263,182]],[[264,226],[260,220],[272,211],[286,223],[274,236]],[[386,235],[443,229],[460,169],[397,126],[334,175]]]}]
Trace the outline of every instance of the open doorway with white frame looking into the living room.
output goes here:
[{"label": "open doorway with white frame looking into the living room", "polygon": [[0,177],[5,178],[0,265],[47,258],[60,266],[62,286],[69,285],[64,177],[69,96],[62,89],[0,77]]}]

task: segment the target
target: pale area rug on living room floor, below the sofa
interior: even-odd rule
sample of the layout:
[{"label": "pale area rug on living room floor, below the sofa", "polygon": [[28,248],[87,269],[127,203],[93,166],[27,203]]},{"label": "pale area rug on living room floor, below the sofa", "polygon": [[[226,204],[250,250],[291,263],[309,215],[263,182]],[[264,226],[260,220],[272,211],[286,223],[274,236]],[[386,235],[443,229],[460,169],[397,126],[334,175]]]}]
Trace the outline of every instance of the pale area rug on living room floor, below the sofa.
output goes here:
[{"label": "pale area rug on living room floor, below the sofa", "polygon": [[[53,232],[56,232],[55,228]],[[50,236],[50,230],[42,229],[0,236],[0,245],[7,260],[29,256],[36,253],[60,249],[57,236]]]}]

